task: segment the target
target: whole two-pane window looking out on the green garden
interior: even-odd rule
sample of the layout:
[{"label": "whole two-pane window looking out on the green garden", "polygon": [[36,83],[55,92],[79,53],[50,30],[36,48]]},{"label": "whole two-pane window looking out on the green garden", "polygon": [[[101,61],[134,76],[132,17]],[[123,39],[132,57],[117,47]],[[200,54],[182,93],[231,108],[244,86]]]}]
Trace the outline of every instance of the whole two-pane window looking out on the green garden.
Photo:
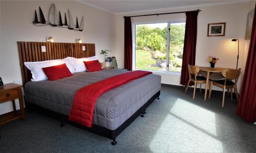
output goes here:
[{"label": "whole two-pane window looking out on the green garden", "polygon": [[185,23],[135,25],[135,69],[181,72]]}]

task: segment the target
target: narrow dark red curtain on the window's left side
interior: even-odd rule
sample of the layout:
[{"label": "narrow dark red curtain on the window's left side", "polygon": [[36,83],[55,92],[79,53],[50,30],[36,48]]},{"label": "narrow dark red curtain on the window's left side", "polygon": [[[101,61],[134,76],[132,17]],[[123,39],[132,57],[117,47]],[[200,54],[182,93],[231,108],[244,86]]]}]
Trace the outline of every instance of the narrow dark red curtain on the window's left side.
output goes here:
[{"label": "narrow dark red curtain on the window's left side", "polygon": [[127,16],[124,16],[124,69],[133,70],[132,23]]}]

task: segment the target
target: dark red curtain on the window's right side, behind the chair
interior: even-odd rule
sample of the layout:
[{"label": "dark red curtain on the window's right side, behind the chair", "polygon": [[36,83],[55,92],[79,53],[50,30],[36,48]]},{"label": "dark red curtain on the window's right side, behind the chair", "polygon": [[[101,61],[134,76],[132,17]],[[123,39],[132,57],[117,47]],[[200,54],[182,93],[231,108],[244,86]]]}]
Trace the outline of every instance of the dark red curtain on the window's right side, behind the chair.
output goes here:
[{"label": "dark red curtain on the window's right side, behind the chair", "polygon": [[195,65],[197,45],[197,16],[198,11],[186,12],[186,28],[180,78],[180,84],[182,85],[186,85],[188,81],[187,64]]}]

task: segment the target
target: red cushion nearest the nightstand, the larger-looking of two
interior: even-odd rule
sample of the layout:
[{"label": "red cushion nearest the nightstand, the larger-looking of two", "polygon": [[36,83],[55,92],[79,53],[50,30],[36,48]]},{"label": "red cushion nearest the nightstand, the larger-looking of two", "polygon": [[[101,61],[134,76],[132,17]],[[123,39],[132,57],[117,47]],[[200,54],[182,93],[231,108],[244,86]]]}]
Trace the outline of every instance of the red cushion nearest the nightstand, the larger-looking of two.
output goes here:
[{"label": "red cushion nearest the nightstand, the larger-looking of two", "polygon": [[72,76],[72,73],[69,71],[66,63],[52,67],[42,68],[42,70],[45,72],[46,76],[51,81]]}]

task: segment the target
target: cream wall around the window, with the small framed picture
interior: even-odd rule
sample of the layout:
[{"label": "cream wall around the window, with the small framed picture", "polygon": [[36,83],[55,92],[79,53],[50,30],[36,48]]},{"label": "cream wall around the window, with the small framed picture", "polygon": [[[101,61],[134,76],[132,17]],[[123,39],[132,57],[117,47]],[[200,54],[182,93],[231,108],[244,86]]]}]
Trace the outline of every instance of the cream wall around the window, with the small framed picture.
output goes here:
[{"label": "cream wall around the window, with the small framed picture", "polygon": [[[240,59],[239,68],[242,67],[244,36],[246,28],[246,18],[248,13],[248,3],[195,7],[189,9],[172,9],[165,11],[143,12],[143,13],[127,13],[116,16],[115,20],[115,54],[118,59],[118,66],[123,67],[124,63],[124,21],[123,16],[140,15],[140,14],[154,14],[166,12],[179,12],[188,10],[201,9],[202,12],[198,15],[198,35],[197,35],[197,49],[196,49],[196,65],[209,67],[207,62],[208,55],[219,57],[220,60],[216,63],[216,67],[236,68],[237,64],[237,44],[231,41],[232,38],[240,39]],[[132,22],[138,21],[157,21],[157,20],[173,20],[178,18],[185,18],[185,14],[168,14],[160,16],[144,16],[133,17]],[[208,23],[226,23],[226,34],[224,37],[207,37]],[[180,85],[179,74],[164,74],[157,73],[162,76],[162,83]],[[239,80],[240,81],[240,80]]]}]

